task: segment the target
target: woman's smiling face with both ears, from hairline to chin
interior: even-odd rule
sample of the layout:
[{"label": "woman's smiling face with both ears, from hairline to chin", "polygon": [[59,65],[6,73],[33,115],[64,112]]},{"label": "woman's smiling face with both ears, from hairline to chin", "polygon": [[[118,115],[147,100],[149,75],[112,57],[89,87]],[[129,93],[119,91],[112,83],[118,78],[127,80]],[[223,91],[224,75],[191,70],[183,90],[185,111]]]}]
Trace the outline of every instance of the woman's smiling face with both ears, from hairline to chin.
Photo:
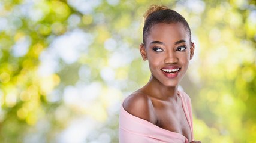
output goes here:
[{"label": "woman's smiling face with both ears, from hairline to chin", "polygon": [[[146,46],[146,47],[145,47]],[[181,23],[155,24],[140,45],[143,60],[149,60],[152,76],[165,86],[177,86],[194,54],[194,43]]]}]

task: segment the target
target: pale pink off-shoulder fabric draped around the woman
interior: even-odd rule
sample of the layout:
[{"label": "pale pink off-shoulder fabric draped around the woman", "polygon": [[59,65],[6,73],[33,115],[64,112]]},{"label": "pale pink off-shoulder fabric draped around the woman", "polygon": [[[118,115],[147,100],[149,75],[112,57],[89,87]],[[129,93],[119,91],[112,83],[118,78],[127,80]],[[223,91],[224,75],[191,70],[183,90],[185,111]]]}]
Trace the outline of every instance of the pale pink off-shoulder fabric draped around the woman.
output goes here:
[{"label": "pale pink off-shoulder fabric draped around the woman", "polygon": [[[192,110],[189,96],[178,91],[178,95],[182,99],[182,107],[185,111],[186,119],[188,120],[192,141],[194,140],[192,126]],[[124,110],[123,104],[119,116],[119,142],[120,143],[160,143],[160,142],[175,142],[189,143],[188,139],[180,133],[171,132],[162,129],[147,120],[140,119]]]}]

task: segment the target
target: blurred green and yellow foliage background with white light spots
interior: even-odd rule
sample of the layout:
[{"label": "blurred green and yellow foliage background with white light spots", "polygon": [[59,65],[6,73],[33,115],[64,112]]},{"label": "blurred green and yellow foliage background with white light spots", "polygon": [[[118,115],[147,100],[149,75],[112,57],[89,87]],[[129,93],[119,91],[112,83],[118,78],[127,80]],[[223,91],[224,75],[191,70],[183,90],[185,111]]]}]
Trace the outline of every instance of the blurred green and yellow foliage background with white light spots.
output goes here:
[{"label": "blurred green and yellow foliage background with white light spots", "polygon": [[180,88],[202,142],[256,142],[256,2],[1,0],[0,142],[118,142],[122,100],[150,77],[143,14],[182,14],[195,55]]}]

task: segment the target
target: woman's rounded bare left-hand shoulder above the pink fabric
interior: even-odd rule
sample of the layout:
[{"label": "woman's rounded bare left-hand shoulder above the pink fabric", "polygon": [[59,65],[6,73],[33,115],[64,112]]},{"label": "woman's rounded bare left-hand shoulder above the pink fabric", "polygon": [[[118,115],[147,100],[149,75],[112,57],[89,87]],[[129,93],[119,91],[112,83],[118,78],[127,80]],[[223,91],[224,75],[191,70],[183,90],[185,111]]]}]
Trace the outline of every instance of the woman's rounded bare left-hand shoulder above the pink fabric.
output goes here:
[{"label": "woman's rounded bare left-hand shoulder above the pink fabric", "polygon": [[123,106],[128,113],[156,124],[154,107],[147,94],[134,92],[125,99]]}]

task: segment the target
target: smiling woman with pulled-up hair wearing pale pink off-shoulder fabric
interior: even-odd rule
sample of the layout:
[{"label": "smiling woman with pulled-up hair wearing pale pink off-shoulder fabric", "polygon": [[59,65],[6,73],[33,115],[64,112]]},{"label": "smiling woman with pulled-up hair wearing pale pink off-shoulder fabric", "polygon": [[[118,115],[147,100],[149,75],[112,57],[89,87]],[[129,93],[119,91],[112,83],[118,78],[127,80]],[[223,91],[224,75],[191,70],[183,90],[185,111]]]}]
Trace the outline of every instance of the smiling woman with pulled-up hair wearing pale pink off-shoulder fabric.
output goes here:
[{"label": "smiling woman with pulled-up hair wearing pale pink off-shoulder fabric", "polygon": [[119,142],[200,142],[193,137],[190,98],[178,91],[195,49],[188,23],[176,11],[157,5],[144,18],[140,53],[152,74],[122,104]]}]

